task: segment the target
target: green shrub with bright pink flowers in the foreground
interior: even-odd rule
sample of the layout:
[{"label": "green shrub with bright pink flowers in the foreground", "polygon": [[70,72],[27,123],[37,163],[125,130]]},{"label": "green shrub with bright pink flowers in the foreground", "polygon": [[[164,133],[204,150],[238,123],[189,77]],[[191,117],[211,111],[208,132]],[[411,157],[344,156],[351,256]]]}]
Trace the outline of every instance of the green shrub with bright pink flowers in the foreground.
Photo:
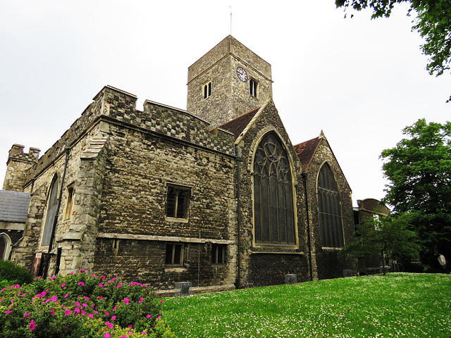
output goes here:
[{"label": "green shrub with bright pink flowers in the foreground", "polygon": [[0,289],[0,337],[175,337],[154,292],[85,272]]}]

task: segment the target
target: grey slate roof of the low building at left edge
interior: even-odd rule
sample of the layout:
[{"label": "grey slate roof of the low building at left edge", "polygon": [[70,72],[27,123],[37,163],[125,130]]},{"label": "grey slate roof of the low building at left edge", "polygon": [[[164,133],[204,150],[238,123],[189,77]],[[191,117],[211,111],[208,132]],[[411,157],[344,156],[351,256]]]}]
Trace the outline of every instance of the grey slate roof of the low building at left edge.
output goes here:
[{"label": "grey slate roof of the low building at left edge", "polygon": [[0,190],[0,221],[25,223],[30,205],[30,194]]}]

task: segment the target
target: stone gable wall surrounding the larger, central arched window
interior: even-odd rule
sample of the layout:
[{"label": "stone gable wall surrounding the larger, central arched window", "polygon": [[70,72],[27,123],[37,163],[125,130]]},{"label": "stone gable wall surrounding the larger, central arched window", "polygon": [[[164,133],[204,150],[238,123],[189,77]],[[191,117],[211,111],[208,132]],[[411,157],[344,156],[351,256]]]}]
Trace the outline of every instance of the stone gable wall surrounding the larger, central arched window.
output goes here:
[{"label": "stone gable wall surrounding the larger, central arched window", "polygon": [[[307,234],[305,227],[304,187],[302,184],[301,165],[292,147],[283,123],[273,104],[262,108],[255,116],[254,125],[240,141],[242,148],[242,163],[240,177],[241,196],[241,253],[242,253],[242,285],[252,287],[257,285],[282,284],[285,273],[296,273],[298,282],[309,280],[307,261]],[[253,189],[252,189],[252,158],[254,149],[266,132],[275,131],[291,159],[292,179],[294,182],[295,213],[297,216],[297,248],[280,246],[255,246],[253,238]]]}]

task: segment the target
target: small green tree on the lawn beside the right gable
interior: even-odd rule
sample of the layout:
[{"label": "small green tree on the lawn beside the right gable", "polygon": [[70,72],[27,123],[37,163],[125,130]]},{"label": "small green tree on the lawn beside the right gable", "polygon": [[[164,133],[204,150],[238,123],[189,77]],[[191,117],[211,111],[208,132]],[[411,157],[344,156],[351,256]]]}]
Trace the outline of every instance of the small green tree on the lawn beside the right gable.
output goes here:
[{"label": "small green tree on the lawn beside the right gable", "polygon": [[387,258],[418,260],[420,246],[416,244],[416,233],[409,230],[409,218],[410,215],[405,213],[364,220],[354,233],[356,241],[343,246],[340,254],[350,258],[378,257],[383,266],[383,275]]}]

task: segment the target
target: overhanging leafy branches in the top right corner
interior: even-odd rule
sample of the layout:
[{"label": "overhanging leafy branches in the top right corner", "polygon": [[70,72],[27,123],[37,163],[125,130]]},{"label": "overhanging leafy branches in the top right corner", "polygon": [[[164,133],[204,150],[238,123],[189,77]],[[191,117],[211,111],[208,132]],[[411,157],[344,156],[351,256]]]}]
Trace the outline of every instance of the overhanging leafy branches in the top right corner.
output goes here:
[{"label": "overhanging leafy branches in the top right corner", "polygon": [[[407,14],[416,15],[412,30],[418,31],[425,40],[421,50],[429,56],[426,69],[431,75],[442,75],[450,70],[451,0],[335,0],[337,7],[345,9],[371,8],[371,18],[388,18],[393,7],[403,2],[410,4]],[[451,96],[447,102],[450,101]]]}]

